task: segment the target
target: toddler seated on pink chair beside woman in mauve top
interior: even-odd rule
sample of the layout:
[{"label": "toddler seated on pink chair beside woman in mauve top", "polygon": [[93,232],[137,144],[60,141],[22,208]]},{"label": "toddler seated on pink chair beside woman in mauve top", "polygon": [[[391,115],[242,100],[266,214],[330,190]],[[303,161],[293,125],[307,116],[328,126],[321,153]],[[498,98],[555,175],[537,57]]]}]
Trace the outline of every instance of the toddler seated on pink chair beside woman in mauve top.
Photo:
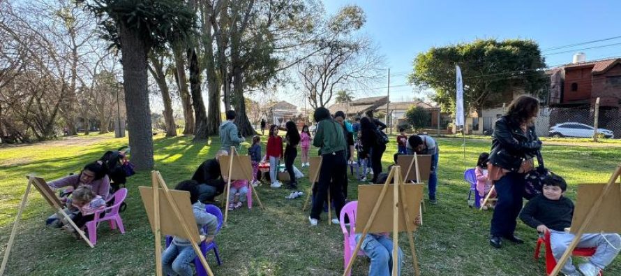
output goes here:
[{"label": "toddler seated on pink chair beside woman in mauve top", "polygon": [[[95,218],[95,212],[105,209],[105,201],[103,198],[91,189],[89,186],[81,186],[75,189],[70,198],[66,201],[67,205],[76,208],[80,212],[77,212],[75,217],[73,217],[73,223],[77,228],[84,227],[84,224],[93,220]],[[103,212],[101,215],[105,215]],[[78,238],[78,234],[75,231],[75,228],[69,224],[69,221],[66,219],[62,220],[64,226],[63,230],[68,231],[75,238]]]}]

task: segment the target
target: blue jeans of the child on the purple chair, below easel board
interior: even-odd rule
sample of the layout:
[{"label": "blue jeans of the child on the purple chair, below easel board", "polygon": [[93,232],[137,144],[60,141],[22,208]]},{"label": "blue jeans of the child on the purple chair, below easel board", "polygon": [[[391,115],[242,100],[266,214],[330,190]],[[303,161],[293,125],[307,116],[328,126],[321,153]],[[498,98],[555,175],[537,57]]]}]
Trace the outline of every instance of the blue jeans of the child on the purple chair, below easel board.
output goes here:
[{"label": "blue jeans of the child on the purple chair, below easel board", "polygon": [[191,246],[177,246],[174,242],[162,253],[162,269],[167,275],[192,276],[190,263],[196,258]]}]

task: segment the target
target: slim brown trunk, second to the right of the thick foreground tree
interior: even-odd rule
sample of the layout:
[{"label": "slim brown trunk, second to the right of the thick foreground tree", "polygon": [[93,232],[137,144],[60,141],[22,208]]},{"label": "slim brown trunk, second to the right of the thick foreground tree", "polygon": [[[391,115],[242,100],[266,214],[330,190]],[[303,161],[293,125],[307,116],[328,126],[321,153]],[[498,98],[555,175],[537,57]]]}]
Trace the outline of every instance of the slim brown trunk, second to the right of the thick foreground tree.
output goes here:
[{"label": "slim brown trunk, second to the right of the thick foreground tree", "polygon": [[174,64],[176,74],[174,75],[177,80],[177,87],[179,87],[179,97],[181,97],[181,106],[184,108],[184,121],[186,127],[184,129],[184,135],[190,135],[194,133],[194,110],[192,108],[192,99],[190,98],[190,92],[188,92],[188,80],[186,78],[186,64],[184,63],[183,50],[181,45],[174,45],[172,48],[172,54],[174,57]]}]

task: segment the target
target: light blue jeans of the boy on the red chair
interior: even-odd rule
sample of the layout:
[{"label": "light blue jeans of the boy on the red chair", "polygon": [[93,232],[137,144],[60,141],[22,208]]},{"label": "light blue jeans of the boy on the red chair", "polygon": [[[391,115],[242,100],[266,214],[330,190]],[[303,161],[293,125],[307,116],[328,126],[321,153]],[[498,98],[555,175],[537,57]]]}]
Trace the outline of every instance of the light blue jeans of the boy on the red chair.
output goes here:
[{"label": "light blue jeans of the boy on the red chair", "polygon": [[[567,249],[571,240],[574,240],[574,237],[575,235],[572,233],[550,230],[550,245],[554,259],[558,261],[563,256],[565,249]],[[618,234],[612,233],[587,233],[582,235],[577,247],[597,247],[595,254],[590,257],[589,262],[593,266],[604,270],[619,254],[619,250],[615,249],[615,247],[621,247],[621,237]],[[576,267],[571,263],[571,258],[567,259],[560,271],[565,274],[576,273]]]}]

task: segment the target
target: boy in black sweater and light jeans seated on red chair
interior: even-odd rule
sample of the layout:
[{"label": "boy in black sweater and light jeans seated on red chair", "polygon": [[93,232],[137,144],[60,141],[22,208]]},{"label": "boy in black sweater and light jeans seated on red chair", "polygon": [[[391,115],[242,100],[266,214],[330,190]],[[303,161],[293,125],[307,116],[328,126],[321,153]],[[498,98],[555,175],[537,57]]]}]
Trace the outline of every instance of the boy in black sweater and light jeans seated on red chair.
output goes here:
[{"label": "boy in black sweater and light jeans seated on red chair", "polygon": [[[574,203],[564,197],[567,183],[562,177],[550,174],[543,181],[544,192],[532,198],[522,210],[520,219],[532,228],[537,228],[539,233],[550,232],[550,244],[554,258],[558,261],[565,249],[574,239],[574,234],[565,232],[564,229],[571,226],[571,218],[574,215]],[[581,263],[578,270],[585,276],[595,276],[600,270],[604,270],[615,259],[621,249],[621,237],[616,233],[585,233],[582,235],[577,247],[597,247],[588,262]],[[580,276],[576,267],[567,260],[561,268],[565,275]]]}]

